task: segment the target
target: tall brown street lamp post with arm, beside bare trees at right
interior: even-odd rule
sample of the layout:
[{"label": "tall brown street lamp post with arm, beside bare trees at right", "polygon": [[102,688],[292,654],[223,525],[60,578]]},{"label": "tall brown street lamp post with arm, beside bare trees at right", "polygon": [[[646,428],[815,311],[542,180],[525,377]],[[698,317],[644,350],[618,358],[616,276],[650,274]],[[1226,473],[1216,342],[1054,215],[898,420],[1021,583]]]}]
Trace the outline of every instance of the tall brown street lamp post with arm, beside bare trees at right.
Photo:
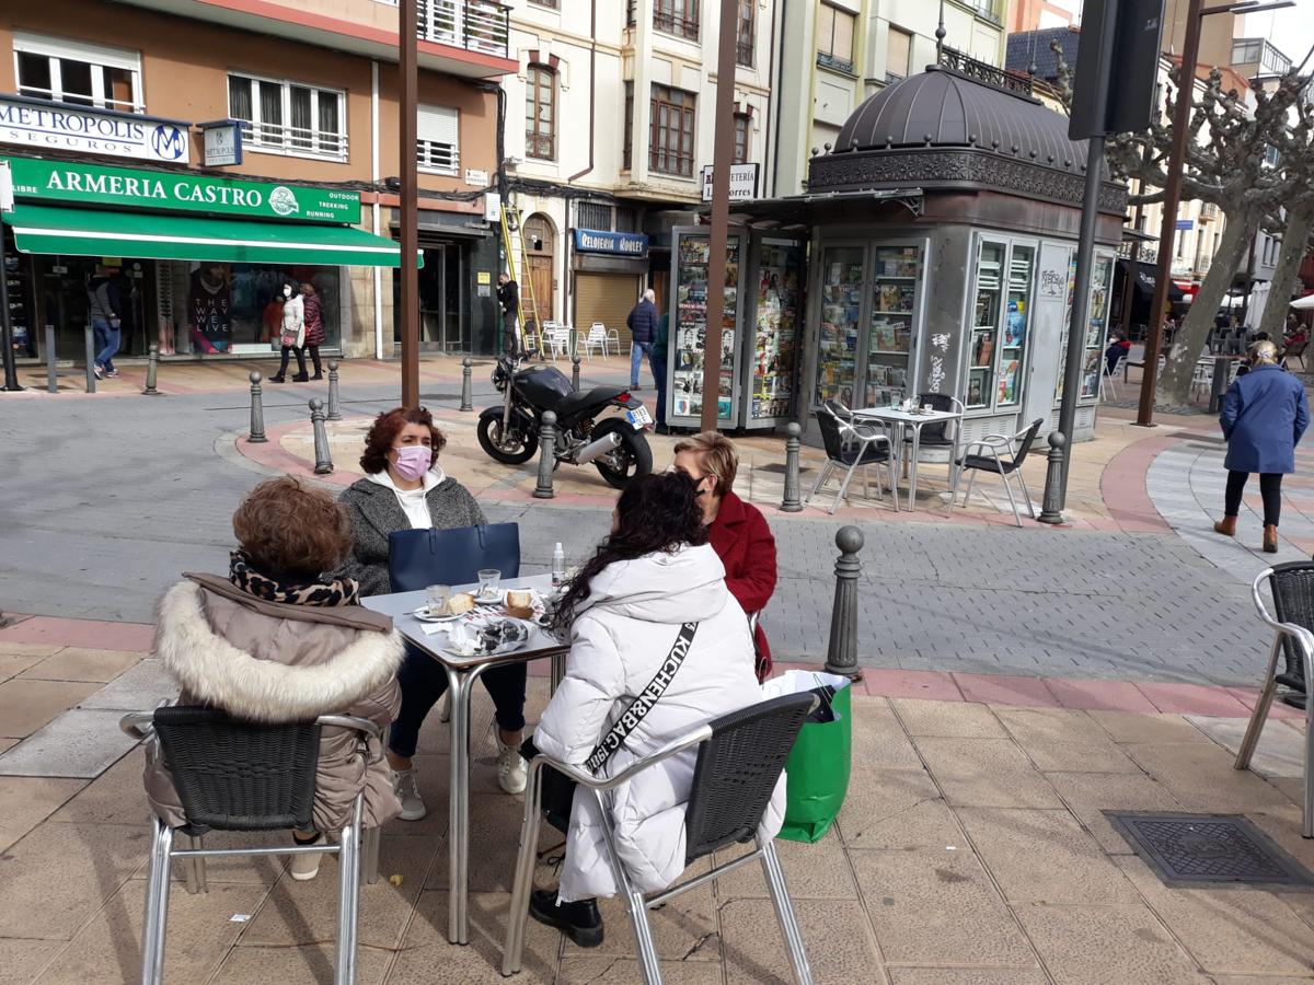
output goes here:
[{"label": "tall brown street lamp post with arm, beside bare trees at right", "polygon": [[1154,395],[1159,383],[1159,348],[1163,317],[1168,307],[1168,277],[1172,274],[1172,242],[1177,234],[1177,206],[1181,204],[1181,172],[1187,160],[1190,98],[1196,88],[1196,62],[1200,60],[1201,21],[1214,13],[1257,13],[1294,7],[1292,0],[1259,4],[1227,4],[1205,9],[1204,0],[1190,0],[1187,9],[1187,35],[1181,43],[1181,75],[1177,77],[1177,105],[1172,113],[1172,144],[1168,148],[1168,181],[1163,189],[1163,219],[1159,222],[1159,259],[1155,271],[1154,301],[1150,302],[1150,334],[1146,338],[1144,373],[1141,378],[1141,406],[1137,424],[1154,427]]}]

